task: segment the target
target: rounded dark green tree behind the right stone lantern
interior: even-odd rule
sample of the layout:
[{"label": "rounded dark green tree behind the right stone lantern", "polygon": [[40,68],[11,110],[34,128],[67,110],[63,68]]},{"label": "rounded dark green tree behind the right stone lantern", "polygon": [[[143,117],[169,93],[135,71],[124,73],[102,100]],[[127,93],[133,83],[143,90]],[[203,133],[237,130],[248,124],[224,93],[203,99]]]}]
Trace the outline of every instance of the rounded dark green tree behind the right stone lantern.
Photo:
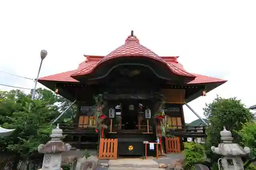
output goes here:
[{"label": "rounded dark green tree behind the right stone lantern", "polygon": [[245,108],[241,100],[236,98],[223,99],[220,96],[210,104],[206,104],[204,115],[208,119],[206,129],[207,139],[205,143],[206,155],[211,161],[216,162],[219,156],[213,154],[210,147],[215,147],[221,142],[220,131],[225,126],[232,132],[234,142],[240,143],[241,139],[236,131],[242,129],[243,124],[250,122],[252,114]]}]

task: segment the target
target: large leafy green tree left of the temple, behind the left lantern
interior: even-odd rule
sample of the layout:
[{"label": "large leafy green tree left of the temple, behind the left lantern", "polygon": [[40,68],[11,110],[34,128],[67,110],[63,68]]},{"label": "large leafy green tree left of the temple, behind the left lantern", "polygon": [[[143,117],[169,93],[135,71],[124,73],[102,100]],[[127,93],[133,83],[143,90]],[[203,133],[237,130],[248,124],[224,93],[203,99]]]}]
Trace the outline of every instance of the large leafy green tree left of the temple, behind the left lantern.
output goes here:
[{"label": "large leafy green tree left of the temple, behind the left lantern", "polygon": [[[20,90],[0,91],[0,126],[16,129],[11,136],[0,138],[0,150],[16,153],[17,160],[37,153],[38,145],[50,139],[56,126],[52,121],[70,103],[47,89],[37,89],[35,96],[31,101],[31,95]],[[66,114],[69,118],[73,115]]]}]

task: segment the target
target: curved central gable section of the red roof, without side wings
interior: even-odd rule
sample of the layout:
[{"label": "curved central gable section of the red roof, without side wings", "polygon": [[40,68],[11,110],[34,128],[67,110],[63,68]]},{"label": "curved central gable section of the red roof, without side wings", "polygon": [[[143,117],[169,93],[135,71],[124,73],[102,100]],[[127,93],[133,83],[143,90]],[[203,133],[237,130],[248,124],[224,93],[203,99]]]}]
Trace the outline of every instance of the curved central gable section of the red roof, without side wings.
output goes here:
[{"label": "curved central gable section of the red roof, without side wings", "polygon": [[[100,56],[97,56],[100,58]],[[185,77],[195,77],[193,74],[190,74],[184,69],[181,69],[177,66],[175,66],[173,63],[166,62],[166,60],[170,60],[170,57],[159,57],[157,54],[146,48],[145,46],[141,45],[139,43],[139,39],[136,36],[129,36],[125,40],[125,44],[122,46],[116,48],[113,52],[103,57],[101,60],[98,60],[97,63],[87,65],[83,69],[75,72],[71,77],[81,76],[81,75],[87,75],[90,74],[98,65],[101,63],[117,58],[117,57],[147,57],[151,58],[153,60],[159,61],[161,63],[166,64],[166,66],[169,68],[170,71],[174,72],[174,74],[177,74],[179,76],[185,76]],[[177,57],[178,58],[178,57]],[[176,60],[177,58],[172,60]]]}]

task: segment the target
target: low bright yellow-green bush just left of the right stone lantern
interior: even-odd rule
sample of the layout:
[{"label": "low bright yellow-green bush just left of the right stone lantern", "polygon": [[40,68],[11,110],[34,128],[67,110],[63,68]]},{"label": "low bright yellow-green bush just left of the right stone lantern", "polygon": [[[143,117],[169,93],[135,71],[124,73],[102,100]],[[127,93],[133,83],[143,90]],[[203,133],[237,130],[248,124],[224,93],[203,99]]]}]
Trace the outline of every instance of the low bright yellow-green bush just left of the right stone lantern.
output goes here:
[{"label": "low bright yellow-green bush just left of the right stone lantern", "polygon": [[205,158],[204,146],[200,143],[184,143],[185,169],[193,170],[196,163],[202,163]]}]

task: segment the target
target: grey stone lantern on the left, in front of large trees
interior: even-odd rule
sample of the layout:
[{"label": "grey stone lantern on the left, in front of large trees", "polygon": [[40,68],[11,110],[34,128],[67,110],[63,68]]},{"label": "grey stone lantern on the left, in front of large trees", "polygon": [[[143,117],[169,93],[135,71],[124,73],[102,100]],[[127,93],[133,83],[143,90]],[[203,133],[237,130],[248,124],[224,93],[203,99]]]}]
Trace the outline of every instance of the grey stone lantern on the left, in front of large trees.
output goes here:
[{"label": "grey stone lantern on the left, in front of large trees", "polygon": [[62,130],[59,125],[52,130],[51,140],[46,144],[40,144],[37,148],[39,153],[44,153],[44,160],[42,162],[43,170],[58,170],[61,165],[61,153],[71,149],[70,144],[64,143],[61,140]]}]

